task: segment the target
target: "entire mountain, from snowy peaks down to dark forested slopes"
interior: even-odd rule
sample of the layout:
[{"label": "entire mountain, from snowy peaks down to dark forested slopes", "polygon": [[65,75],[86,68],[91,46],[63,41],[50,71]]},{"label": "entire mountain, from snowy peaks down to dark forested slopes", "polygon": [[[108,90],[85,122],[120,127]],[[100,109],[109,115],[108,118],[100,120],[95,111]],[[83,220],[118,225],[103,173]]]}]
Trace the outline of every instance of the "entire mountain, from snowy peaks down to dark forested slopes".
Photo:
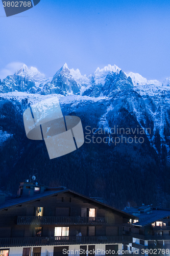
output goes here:
[{"label": "entire mountain, from snowy peaks down to dark forested slopes", "polygon": [[[2,191],[16,194],[18,182],[29,179],[35,168],[38,183],[103,197],[121,209],[142,203],[170,207],[168,78],[163,84],[148,81],[110,65],[82,76],[65,64],[47,79],[24,65],[1,82],[0,90]],[[85,143],[50,160],[44,141],[26,137],[22,114],[35,102],[54,96],[63,115],[81,118]],[[117,127],[130,132],[123,134],[123,143],[115,144],[115,137],[122,139]],[[89,132],[93,128],[94,134]],[[135,143],[135,136],[143,143]],[[125,143],[130,137],[133,142]]]}]

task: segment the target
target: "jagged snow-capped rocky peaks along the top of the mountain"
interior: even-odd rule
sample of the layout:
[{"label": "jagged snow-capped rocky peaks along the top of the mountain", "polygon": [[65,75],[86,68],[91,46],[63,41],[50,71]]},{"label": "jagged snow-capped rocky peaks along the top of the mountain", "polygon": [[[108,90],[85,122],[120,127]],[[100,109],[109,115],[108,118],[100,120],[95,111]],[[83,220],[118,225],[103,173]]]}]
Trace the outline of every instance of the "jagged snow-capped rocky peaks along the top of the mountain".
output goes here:
[{"label": "jagged snow-capped rocky peaks along the top of the mountain", "polygon": [[[79,69],[68,69],[65,63],[52,78],[46,78],[36,68],[30,69],[24,64],[14,75],[9,75],[3,81],[0,81],[0,93],[12,91],[28,92],[34,94],[52,94],[57,93],[64,96],[67,95],[87,95],[99,97],[102,95],[110,97],[112,90],[120,89],[120,84],[115,86],[115,82],[110,86],[110,91],[106,93],[105,87],[108,89],[108,80],[115,80],[119,73],[123,74],[124,79],[119,79],[120,83],[127,83],[134,87],[152,85],[152,87],[163,87],[168,90],[170,86],[170,78],[167,77],[163,83],[158,80],[147,80],[138,73],[130,72],[126,74],[116,65],[105,66],[103,69],[97,68],[93,74],[88,76],[81,75]],[[114,77],[113,76],[117,76]],[[123,80],[126,80],[123,82]],[[141,88],[142,89],[142,88]]]}]

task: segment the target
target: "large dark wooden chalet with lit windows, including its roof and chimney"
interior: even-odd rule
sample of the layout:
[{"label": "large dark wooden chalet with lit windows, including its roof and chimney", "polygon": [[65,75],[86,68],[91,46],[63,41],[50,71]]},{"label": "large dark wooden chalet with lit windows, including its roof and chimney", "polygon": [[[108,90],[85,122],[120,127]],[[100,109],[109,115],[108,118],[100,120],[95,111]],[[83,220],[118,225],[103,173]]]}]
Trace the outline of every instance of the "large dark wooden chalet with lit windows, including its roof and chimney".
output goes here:
[{"label": "large dark wooden chalet with lit windows, including its roof and chimney", "polygon": [[132,243],[123,234],[129,219],[133,216],[65,187],[22,182],[16,198],[0,195],[0,256],[57,256],[63,249],[74,255],[80,249],[117,253]]}]

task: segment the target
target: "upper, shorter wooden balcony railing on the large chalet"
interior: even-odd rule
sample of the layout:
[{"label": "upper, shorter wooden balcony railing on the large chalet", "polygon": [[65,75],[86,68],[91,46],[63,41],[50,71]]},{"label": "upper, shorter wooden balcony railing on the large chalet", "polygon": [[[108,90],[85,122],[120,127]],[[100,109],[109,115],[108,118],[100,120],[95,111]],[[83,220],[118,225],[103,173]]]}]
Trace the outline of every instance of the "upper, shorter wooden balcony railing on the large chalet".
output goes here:
[{"label": "upper, shorter wooden balcony railing on the large chalet", "polygon": [[18,216],[17,225],[104,225],[107,217]]}]

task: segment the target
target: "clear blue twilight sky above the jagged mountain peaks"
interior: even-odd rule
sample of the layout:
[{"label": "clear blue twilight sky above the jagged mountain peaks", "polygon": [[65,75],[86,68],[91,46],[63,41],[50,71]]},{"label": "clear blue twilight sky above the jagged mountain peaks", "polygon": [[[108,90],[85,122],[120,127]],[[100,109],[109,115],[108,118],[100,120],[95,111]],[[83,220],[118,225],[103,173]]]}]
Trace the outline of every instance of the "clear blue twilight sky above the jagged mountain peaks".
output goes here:
[{"label": "clear blue twilight sky above the jagged mountain peaks", "polygon": [[65,62],[87,75],[115,64],[170,76],[169,0],[41,0],[11,17],[1,2],[0,23],[0,78],[21,63],[50,77]]}]

